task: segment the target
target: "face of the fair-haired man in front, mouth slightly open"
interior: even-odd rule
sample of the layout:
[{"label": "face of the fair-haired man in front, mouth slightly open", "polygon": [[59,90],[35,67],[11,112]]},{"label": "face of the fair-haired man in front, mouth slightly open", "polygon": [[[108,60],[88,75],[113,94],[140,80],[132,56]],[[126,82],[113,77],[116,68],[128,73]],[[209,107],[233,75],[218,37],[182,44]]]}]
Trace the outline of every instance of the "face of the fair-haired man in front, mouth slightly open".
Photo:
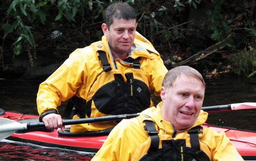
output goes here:
[{"label": "face of the fair-haired man in front, mouth slightly open", "polygon": [[204,90],[202,82],[198,79],[178,76],[172,87],[162,87],[163,118],[172,122],[175,130],[190,128],[199,116]]}]

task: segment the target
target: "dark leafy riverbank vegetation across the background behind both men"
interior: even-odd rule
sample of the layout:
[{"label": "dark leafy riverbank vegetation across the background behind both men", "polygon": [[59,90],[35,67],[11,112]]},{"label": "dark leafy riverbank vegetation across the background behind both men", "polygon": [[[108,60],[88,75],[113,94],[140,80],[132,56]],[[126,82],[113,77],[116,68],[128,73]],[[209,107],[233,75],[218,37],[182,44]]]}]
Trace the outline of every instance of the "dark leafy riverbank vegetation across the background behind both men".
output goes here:
[{"label": "dark leafy riverbank vegetation across the background behind both men", "polygon": [[[1,0],[1,72],[57,64],[76,48],[100,40],[102,13],[114,2]],[[254,76],[255,0],[125,2],[136,9],[137,31],[152,42],[167,68],[189,65],[209,78]]]}]

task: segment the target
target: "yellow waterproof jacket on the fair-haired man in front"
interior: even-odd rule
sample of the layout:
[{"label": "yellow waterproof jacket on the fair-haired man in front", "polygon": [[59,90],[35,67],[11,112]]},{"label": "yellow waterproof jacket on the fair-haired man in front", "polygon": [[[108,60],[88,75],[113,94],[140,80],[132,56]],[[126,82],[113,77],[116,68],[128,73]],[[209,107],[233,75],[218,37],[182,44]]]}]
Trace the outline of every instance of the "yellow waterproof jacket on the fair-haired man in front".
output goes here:
[{"label": "yellow waterproof jacket on the fair-haired man in front", "polygon": [[[122,120],[109,134],[92,161],[138,161],[150,148],[151,139],[145,130],[143,120],[153,120],[160,138],[159,148],[162,148],[164,140],[186,139],[186,146],[190,147],[188,130],[177,132],[173,135],[171,123],[163,119],[161,105],[157,108],[151,107],[141,112],[141,115]],[[208,113],[200,111],[200,115],[193,127],[202,125],[207,119]],[[192,127],[191,127],[192,128]],[[210,128],[203,127],[199,134],[200,148],[207,154],[211,161],[243,161],[232,143],[226,137],[225,132],[216,132]],[[163,149],[164,150],[164,149]],[[165,152],[167,153],[167,152]]]}]

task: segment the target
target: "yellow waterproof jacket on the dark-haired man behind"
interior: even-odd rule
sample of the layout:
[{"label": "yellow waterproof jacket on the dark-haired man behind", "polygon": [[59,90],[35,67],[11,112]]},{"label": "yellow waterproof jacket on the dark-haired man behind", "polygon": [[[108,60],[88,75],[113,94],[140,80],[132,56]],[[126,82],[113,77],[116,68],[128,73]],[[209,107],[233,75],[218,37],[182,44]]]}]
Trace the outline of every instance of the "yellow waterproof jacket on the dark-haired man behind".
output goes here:
[{"label": "yellow waterproof jacket on the dark-haired man behind", "polygon": [[[103,70],[98,51],[106,53],[112,70],[107,72]],[[139,58],[140,69],[135,68],[133,62],[114,60],[105,36],[99,42],[76,49],[49,78],[40,84],[37,93],[38,113],[57,109],[62,101],[67,101],[74,95],[86,100],[87,111],[83,117],[136,113],[141,112],[142,107],[144,109],[152,107],[153,102],[148,91],[154,91],[156,96],[160,95],[161,83],[167,69],[152,44],[137,32],[129,51],[129,58],[132,60]],[[112,91],[114,86],[118,91]],[[125,97],[125,90],[119,89],[120,86],[127,88],[126,93],[134,96],[135,101],[132,97]],[[113,95],[117,99],[108,99],[114,98]],[[138,105],[140,106],[136,109]],[[73,118],[80,117],[75,115]],[[116,122],[104,122],[72,125],[71,131],[98,131],[116,124]]]}]

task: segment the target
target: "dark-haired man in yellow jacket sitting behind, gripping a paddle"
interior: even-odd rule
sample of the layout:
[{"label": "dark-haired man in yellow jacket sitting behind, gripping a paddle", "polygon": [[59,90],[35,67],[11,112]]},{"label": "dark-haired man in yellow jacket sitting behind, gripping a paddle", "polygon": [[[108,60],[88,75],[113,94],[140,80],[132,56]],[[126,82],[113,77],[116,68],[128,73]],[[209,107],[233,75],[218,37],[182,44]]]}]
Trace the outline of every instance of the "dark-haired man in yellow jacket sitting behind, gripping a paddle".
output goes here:
[{"label": "dark-haired man in yellow jacket sitting behind, gripping a paddle", "polygon": [[[136,27],[130,5],[119,2],[107,7],[102,40],[76,49],[40,84],[37,109],[46,128],[64,130],[57,107],[71,98],[77,110],[73,119],[137,113],[153,106],[150,91],[160,96],[167,69]],[[72,125],[70,131],[100,131],[117,123]]]}]

